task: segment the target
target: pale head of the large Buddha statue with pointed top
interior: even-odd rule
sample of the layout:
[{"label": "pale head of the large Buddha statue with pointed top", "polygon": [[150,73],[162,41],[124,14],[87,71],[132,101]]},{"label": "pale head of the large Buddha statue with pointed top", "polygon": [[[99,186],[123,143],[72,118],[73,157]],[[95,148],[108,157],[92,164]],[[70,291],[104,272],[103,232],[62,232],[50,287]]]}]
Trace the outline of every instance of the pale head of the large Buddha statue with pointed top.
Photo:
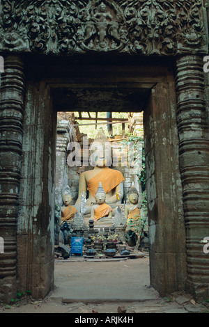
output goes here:
[{"label": "pale head of the large Buddha statue with pointed top", "polygon": [[111,166],[111,144],[102,128],[99,129],[95,140],[90,147],[91,166],[109,167]]}]

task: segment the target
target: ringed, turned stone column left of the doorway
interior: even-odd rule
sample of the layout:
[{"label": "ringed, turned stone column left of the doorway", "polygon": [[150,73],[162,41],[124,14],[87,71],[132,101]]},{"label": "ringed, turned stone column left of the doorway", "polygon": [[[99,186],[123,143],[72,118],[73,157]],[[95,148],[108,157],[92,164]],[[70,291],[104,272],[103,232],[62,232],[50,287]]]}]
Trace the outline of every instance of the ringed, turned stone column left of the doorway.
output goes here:
[{"label": "ringed, turned stone column left of the doorway", "polygon": [[0,303],[16,296],[17,216],[22,166],[24,65],[17,56],[5,58],[0,111]]}]

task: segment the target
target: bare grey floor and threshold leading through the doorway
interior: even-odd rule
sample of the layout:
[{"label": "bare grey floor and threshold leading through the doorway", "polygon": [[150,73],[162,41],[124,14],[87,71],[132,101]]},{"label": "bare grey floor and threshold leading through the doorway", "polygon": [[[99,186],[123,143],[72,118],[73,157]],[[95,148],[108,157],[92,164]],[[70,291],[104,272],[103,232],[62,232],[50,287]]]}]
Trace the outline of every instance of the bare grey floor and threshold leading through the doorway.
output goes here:
[{"label": "bare grey floor and threshold leading through the doorway", "polygon": [[55,262],[55,287],[42,301],[13,299],[0,313],[137,313],[209,312],[209,304],[176,292],[161,298],[150,287],[149,258],[103,262],[82,259]]}]

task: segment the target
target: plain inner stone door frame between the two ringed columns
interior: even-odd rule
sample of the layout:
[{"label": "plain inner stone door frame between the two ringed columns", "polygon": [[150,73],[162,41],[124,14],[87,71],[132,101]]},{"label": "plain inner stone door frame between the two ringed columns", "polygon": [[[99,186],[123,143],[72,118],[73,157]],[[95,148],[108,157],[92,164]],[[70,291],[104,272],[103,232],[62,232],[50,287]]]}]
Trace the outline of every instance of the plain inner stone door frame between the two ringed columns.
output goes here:
[{"label": "plain inner stone door frame between the two ringed columns", "polygon": [[[132,111],[137,111],[136,107],[145,109],[150,281],[162,296],[185,287],[185,228],[172,63],[144,64],[68,63],[65,70],[64,65],[29,64],[17,226],[17,285],[18,289],[31,289],[35,298],[44,297],[54,285],[56,112],[69,111],[69,99],[74,107],[78,105],[78,90],[92,96],[93,92],[107,95],[109,90],[114,94],[131,93]],[[109,110],[118,111],[117,101],[111,106],[105,96],[103,101],[100,110],[108,111],[109,106]],[[120,111],[127,111],[122,103]]]}]

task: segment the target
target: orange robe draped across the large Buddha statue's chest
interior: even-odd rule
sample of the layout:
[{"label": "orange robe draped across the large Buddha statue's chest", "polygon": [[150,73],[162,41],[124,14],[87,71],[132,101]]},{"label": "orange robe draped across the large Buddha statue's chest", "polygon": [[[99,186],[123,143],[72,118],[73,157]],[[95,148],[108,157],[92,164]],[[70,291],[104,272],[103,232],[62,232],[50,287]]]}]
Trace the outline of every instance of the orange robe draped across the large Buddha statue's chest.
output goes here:
[{"label": "orange robe draped across the large Buddha statue's chest", "polygon": [[92,196],[95,197],[95,193],[98,190],[99,183],[102,182],[102,187],[104,192],[107,194],[109,191],[118,186],[121,182],[124,181],[123,175],[120,171],[104,168],[100,173],[95,175],[89,180],[87,189]]}]

